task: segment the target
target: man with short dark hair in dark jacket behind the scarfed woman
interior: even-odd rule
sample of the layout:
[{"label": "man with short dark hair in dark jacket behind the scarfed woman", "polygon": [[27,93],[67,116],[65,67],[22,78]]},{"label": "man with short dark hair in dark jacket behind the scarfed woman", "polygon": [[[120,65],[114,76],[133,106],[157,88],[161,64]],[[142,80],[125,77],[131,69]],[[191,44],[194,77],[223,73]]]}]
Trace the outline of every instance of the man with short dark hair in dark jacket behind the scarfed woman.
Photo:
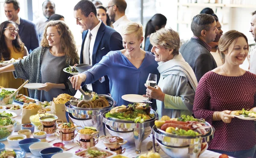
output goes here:
[{"label": "man with short dark hair in dark jacket behind the scarfed woman", "polygon": [[193,17],[191,30],[194,36],[184,43],[179,51],[195,72],[199,82],[205,73],[217,68],[208,43],[215,40],[218,29],[212,15],[198,14]]}]

